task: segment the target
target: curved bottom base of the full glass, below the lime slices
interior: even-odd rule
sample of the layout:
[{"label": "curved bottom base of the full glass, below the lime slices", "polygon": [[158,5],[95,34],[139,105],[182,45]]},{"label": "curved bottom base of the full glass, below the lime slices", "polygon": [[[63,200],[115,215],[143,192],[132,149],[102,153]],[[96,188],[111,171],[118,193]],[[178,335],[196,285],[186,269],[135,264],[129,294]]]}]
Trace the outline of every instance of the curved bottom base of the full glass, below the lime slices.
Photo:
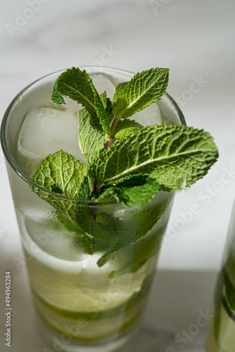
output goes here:
[{"label": "curved bottom base of the full glass, below the lime slices", "polygon": [[36,327],[45,344],[43,352],[128,352],[136,343],[141,327],[141,317],[122,332],[98,341],[80,341],[67,334],[56,332],[37,313]]}]

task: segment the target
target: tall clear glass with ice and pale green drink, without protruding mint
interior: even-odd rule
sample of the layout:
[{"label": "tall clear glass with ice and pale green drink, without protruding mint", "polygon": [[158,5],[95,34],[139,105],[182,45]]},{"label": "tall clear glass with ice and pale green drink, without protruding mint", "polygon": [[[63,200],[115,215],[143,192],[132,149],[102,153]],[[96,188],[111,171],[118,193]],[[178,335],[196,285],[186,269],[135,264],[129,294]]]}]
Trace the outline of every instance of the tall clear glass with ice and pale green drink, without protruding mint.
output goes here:
[{"label": "tall clear glass with ice and pale green drink, without protruding mint", "polygon": [[[113,68],[84,69],[98,92],[106,90],[110,98],[118,83],[134,75]],[[23,89],[1,126],[39,332],[53,351],[128,351],[146,306],[174,193],[160,191],[151,203],[125,208],[115,201],[68,199],[34,184],[37,164],[50,153],[63,149],[84,161],[77,143],[81,107],[68,99],[65,106],[51,101],[60,74],[42,77]],[[144,126],[185,124],[166,93],[134,118]],[[55,203],[80,211],[86,236],[32,187]]]}]

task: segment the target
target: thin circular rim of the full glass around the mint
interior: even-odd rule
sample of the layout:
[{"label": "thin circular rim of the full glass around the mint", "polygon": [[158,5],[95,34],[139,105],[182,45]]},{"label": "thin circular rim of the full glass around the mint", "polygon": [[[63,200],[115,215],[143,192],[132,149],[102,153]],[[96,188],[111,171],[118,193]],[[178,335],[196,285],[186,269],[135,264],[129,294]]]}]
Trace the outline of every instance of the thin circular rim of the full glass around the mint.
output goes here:
[{"label": "thin circular rim of the full glass around the mint", "polygon": [[[111,67],[106,67],[106,66],[92,66],[92,65],[90,65],[90,66],[80,66],[79,68],[80,68],[80,70],[91,70],[91,71],[94,70],[94,72],[97,72],[97,70],[100,70],[101,72],[106,72],[106,73],[107,73],[107,71],[109,71],[110,73],[115,72],[115,73],[126,73],[127,75],[132,75],[132,76],[135,75],[135,73],[128,71],[128,70],[122,70],[121,68],[111,68]],[[68,68],[65,68],[64,70],[56,70],[53,73],[49,73],[47,75],[39,77],[37,80],[34,80],[32,83],[28,84],[25,88],[23,88],[15,96],[15,98],[11,101],[11,103],[8,105],[8,108],[6,109],[6,112],[4,113],[4,117],[1,122],[1,133],[0,133],[1,148],[4,152],[4,156],[5,156],[8,164],[18,174],[18,176],[21,179],[25,180],[25,182],[27,182],[29,185],[36,187],[37,189],[40,189],[41,191],[44,191],[46,194],[49,194],[51,196],[58,196],[58,198],[61,198],[64,200],[76,201],[76,202],[81,202],[81,203],[96,204],[96,205],[99,205],[101,203],[116,203],[115,199],[94,201],[91,199],[87,200],[87,199],[69,198],[69,197],[63,196],[61,194],[53,193],[52,191],[49,191],[48,189],[45,189],[42,186],[39,186],[39,184],[35,183],[32,179],[30,179],[30,177],[25,175],[25,172],[18,165],[15,164],[15,161],[13,160],[11,153],[8,149],[8,145],[6,142],[6,123],[8,121],[8,116],[10,115],[11,109],[13,108],[15,102],[18,101],[18,99],[20,99],[20,96],[22,96],[25,92],[27,92],[28,89],[30,89],[32,86],[34,86],[34,84],[37,84],[37,82],[43,81],[44,79],[47,79],[47,78],[49,78],[53,75],[56,75],[56,74],[61,75],[61,73],[65,72],[65,70],[68,70]],[[179,120],[182,123],[182,125],[186,125],[184,115],[183,115],[181,109],[179,108],[179,106],[177,105],[176,101],[174,101],[172,96],[170,96],[170,94],[168,94],[167,92],[164,92],[163,96],[166,96],[167,99],[169,99],[170,102],[172,103],[172,105],[174,106],[175,110],[177,111],[177,113],[179,115]],[[161,100],[161,99],[159,99],[159,100]]]}]

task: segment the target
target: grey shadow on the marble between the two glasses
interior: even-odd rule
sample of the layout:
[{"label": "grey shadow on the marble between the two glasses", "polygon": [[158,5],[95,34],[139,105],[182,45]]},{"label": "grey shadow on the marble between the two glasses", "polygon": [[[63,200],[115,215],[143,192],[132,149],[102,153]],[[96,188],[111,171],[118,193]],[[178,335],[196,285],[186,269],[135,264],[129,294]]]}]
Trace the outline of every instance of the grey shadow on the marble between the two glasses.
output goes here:
[{"label": "grey shadow on the marble between the two glasses", "polygon": [[[204,352],[217,272],[158,271],[133,352]],[[199,318],[201,317],[201,318]]]}]

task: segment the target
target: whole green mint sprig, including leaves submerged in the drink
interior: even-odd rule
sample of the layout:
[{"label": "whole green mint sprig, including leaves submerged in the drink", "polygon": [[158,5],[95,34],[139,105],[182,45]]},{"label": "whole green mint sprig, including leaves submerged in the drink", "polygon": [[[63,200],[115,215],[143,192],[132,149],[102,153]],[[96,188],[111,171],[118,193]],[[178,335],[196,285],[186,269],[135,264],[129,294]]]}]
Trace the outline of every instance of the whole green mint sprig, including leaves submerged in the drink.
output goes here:
[{"label": "whole green mint sprig, including leaves submerged in the drink", "polygon": [[[168,77],[167,68],[137,73],[118,84],[113,101],[106,92],[99,95],[79,68],[66,70],[53,87],[55,103],[65,103],[68,96],[83,106],[78,144],[89,166],[58,151],[39,163],[32,180],[40,187],[31,188],[55,208],[58,221],[78,229],[78,244],[86,253],[103,253],[99,266],[123,247],[131,251],[134,261],[126,258],[111,277],[138,270],[158,251],[161,238],[144,237],[170,208],[172,196],[156,201],[158,191],[189,187],[217,160],[208,132],[184,125],[142,127],[128,119],[163,96]],[[117,213],[124,206],[134,215],[126,221],[110,216],[113,206]],[[137,244],[141,237],[143,244]]]}]

